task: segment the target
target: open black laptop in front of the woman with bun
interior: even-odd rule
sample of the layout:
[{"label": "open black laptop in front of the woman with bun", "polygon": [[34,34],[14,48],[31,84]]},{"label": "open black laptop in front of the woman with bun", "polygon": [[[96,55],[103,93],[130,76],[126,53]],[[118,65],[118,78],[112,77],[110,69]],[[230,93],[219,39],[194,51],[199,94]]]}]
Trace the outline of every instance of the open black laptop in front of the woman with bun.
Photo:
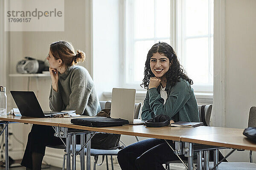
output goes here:
[{"label": "open black laptop in front of the woman with bun", "polygon": [[11,91],[21,116],[52,117],[66,112],[43,111],[33,91]]}]

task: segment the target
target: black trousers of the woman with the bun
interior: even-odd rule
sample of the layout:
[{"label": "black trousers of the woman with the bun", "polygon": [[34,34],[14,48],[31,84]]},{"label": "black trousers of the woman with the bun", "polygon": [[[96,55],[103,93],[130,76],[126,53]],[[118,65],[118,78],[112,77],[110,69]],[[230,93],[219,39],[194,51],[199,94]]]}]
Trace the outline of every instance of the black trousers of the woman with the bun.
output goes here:
[{"label": "black trousers of the woman with the bun", "polygon": [[[28,142],[24,152],[21,165],[32,169],[32,153],[41,153],[44,156],[47,145],[63,144],[60,138],[54,136],[55,130],[52,126],[33,125],[28,136]],[[66,139],[63,139],[66,142]],[[80,142],[80,141],[79,141]]]}]

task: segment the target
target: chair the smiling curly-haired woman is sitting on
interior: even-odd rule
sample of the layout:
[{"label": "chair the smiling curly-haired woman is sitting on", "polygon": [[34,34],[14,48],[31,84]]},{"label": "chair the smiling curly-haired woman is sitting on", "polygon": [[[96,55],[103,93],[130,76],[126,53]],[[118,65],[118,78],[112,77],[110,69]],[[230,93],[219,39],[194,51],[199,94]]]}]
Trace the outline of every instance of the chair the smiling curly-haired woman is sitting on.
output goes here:
[{"label": "chair the smiling curly-haired woman is sitting on", "polygon": [[[201,114],[201,109],[204,109],[204,118],[202,117]],[[210,125],[210,119],[211,119],[211,114],[212,114],[212,105],[198,105],[198,111],[199,111],[199,120],[200,122],[206,123],[207,126]],[[185,163],[188,163],[188,160],[183,160]],[[204,161],[204,159],[202,159]],[[193,162],[197,162],[197,159],[193,159]],[[181,163],[180,160],[175,160],[175,161],[167,161],[164,164],[166,165],[166,170],[170,170],[169,164],[174,164],[174,163]]]}]

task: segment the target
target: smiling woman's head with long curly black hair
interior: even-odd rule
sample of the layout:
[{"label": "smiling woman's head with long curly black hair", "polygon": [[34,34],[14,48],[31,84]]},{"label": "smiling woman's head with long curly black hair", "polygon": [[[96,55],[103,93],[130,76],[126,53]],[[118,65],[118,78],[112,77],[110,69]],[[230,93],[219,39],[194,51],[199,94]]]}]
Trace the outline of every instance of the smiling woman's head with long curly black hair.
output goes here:
[{"label": "smiling woman's head with long curly black hair", "polygon": [[156,43],[148,51],[141,87],[144,86],[145,89],[148,89],[151,77],[160,78],[161,85],[164,87],[167,81],[173,86],[176,82],[180,82],[180,78],[192,85],[192,79],[189,79],[183,72],[173,48],[166,42]]}]

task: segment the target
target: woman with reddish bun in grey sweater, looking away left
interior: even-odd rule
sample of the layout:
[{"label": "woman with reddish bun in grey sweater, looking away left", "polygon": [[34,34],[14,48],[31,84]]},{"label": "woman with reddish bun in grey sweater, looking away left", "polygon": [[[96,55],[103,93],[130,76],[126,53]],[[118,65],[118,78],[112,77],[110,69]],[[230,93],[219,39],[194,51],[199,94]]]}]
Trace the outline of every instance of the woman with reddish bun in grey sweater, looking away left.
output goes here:
[{"label": "woman with reddish bun in grey sweater, looking away left", "polygon": [[[50,45],[47,60],[52,79],[49,95],[52,111],[76,110],[76,114],[87,116],[96,116],[100,111],[90,74],[84,67],[76,65],[84,59],[85,53],[80,50],[75,52],[70,42],[58,41]],[[33,125],[21,165],[27,169],[41,170],[45,147],[63,144],[54,133],[51,126]]]}]

